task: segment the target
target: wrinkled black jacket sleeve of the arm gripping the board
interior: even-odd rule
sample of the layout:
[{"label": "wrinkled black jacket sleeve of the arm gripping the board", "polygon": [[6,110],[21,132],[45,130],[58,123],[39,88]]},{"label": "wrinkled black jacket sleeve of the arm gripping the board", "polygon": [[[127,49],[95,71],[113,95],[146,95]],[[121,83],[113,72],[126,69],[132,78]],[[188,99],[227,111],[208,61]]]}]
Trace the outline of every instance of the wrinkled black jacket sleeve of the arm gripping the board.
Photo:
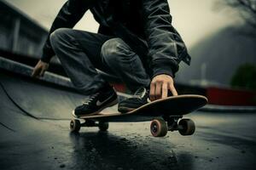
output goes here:
[{"label": "wrinkled black jacket sleeve of the arm gripping the board", "polygon": [[167,0],[142,1],[148,62],[153,77],[160,74],[175,77],[180,61],[189,65],[190,56],[182,38],[172,26]]}]

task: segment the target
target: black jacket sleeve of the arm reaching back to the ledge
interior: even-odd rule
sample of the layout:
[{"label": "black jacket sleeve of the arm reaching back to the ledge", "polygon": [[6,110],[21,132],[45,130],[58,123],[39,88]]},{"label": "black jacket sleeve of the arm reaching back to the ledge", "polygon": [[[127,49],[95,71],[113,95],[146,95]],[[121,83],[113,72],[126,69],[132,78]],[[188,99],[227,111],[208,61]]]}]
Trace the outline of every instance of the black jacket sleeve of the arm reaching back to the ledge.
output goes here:
[{"label": "black jacket sleeve of the arm reaching back to the ledge", "polygon": [[[83,17],[84,13],[90,8],[93,0],[68,0],[60,12],[57,14],[50,30],[49,35],[58,28],[66,27],[73,28],[75,24]],[[49,42],[49,35],[44,43],[43,55],[41,60],[49,63],[49,60],[55,55]]]}]

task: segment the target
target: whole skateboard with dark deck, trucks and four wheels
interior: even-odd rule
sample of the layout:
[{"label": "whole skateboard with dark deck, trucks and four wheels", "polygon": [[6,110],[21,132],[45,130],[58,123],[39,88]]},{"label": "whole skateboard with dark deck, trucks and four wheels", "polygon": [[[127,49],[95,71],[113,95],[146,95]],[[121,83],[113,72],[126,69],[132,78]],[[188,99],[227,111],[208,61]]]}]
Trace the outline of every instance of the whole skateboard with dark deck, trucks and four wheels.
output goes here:
[{"label": "whole skateboard with dark deck, trucks and four wheels", "polygon": [[[166,136],[168,131],[178,131],[182,135],[195,133],[195,122],[183,118],[207,104],[207,98],[201,95],[186,94],[158,99],[149,102],[133,111],[126,113],[106,114],[103,112],[94,116],[73,118],[70,130],[79,132],[80,127],[99,127],[100,131],[108,130],[108,122],[148,122],[150,132],[154,137]],[[80,120],[84,122],[81,123]]]}]

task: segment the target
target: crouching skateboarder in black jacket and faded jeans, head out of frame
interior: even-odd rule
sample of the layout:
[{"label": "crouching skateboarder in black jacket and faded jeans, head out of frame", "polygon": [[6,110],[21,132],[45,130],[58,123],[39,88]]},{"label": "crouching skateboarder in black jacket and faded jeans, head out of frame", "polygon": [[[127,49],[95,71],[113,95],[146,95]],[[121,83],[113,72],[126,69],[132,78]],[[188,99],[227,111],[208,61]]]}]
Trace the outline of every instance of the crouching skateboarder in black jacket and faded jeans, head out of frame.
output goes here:
[{"label": "crouching skateboarder in black jacket and faded jeans, head out of frame", "polygon": [[[89,10],[98,33],[73,30]],[[172,26],[167,0],[68,0],[57,14],[32,72],[43,77],[56,55],[74,86],[88,95],[74,116],[89,116],[117,104],[117,94],[96,69],[118,76],[135,92],[119,102],[131,111],[150,100],[177,95],[173,77],[180,61],[189,65],[182,38]]]}]

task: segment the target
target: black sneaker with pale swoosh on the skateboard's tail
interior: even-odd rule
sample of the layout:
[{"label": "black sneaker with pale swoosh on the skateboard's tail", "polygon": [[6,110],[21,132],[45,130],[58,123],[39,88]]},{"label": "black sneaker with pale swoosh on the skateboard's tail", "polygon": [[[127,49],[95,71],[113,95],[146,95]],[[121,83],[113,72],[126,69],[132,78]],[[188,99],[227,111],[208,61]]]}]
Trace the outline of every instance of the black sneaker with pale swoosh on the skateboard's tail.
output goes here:
[{"label": "black sneaker with pale swoosh on the skateboard's tail", "polygon": [[79,105],[74,111],[73,116],[91,116],[96,115],[103,109],[116,105],[118,96],[112,87],[109,85],[101,88],[96,94],[91,95],[86,99],[83,105]]}]

